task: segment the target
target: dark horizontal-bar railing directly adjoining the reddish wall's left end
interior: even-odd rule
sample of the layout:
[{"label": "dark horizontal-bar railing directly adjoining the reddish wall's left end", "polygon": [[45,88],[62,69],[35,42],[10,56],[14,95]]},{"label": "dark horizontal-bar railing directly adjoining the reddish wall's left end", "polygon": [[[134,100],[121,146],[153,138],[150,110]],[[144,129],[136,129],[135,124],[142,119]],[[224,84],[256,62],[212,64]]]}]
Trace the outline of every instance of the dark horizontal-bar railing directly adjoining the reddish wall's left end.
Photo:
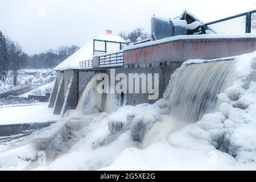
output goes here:
[{"label": "dark horizontal-bar railing directly adjoining the reddish wall's left end", "polygon": [[98,60],[98,65],[99,67],[113,67],[115,65],[123,65],[123,51],[100,56]]}]

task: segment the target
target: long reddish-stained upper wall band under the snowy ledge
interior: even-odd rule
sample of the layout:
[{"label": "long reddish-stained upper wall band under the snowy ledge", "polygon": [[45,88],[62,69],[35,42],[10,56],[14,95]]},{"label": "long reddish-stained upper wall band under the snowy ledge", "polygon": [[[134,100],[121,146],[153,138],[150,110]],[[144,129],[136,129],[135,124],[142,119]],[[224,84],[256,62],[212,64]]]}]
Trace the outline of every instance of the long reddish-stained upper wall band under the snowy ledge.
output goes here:
[{"label": "long reddish-stained upper wall band under the snowy ledge", "polygon": [[175,40],[152,46],[126,50],[125,65],[217,59],[256,51],[256,38],[216,38]]}]

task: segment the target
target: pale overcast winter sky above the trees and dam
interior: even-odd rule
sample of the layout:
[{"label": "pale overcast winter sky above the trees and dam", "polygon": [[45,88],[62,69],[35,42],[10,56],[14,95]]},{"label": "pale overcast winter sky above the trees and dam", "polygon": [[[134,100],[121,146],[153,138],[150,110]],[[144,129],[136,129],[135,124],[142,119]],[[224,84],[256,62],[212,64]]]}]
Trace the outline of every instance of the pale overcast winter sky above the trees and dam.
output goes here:
[{"label": "pale overcast winter sky above the trees and dam", "polygon": [[256,9],[256,0],[0,0],[0,30],[32,55],[81,47],[106,29],[150,32],[151,15],[175,18],[184,9],[208,22]]}]

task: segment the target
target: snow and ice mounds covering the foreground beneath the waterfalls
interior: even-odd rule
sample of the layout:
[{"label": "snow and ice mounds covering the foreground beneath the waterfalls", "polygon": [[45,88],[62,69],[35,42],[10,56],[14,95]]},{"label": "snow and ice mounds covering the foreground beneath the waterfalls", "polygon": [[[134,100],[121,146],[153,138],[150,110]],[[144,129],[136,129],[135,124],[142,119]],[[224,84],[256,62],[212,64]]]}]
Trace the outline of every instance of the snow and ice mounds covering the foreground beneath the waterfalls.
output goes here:
[{"label": "snow and ice mounds covering the foreground beneath the waterfalls", "polygon": [[[231,68],[232,85],[218,94],[214,109],[186,125],[170,114],[170,90],[152,105],[100,112],[105,106],[116,108],[118,98],[106,98],[104,103],[102,94],[95,92],[96,79],[92,79],[76,110],[16,143],[0,144],[0,169],[254,170],[254,60],[256,52],[238,56]],[[38,162],[42,151],[47,163]]]}]

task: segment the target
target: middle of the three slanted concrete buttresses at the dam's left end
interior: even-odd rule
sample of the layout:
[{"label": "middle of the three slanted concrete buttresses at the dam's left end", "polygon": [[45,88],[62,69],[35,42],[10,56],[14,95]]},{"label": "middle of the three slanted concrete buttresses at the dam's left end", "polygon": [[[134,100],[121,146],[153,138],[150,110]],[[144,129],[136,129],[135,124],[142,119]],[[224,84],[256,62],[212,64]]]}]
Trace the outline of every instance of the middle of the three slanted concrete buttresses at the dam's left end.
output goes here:
[{"label": "middle of the three slanted concrete buttresses at the dam's left end", "polygon": [[64,103],[64,77],[60,81],[59,89],[57,92],[54,108],[53,108],[53,114],[60,114],[61,109]]}]

